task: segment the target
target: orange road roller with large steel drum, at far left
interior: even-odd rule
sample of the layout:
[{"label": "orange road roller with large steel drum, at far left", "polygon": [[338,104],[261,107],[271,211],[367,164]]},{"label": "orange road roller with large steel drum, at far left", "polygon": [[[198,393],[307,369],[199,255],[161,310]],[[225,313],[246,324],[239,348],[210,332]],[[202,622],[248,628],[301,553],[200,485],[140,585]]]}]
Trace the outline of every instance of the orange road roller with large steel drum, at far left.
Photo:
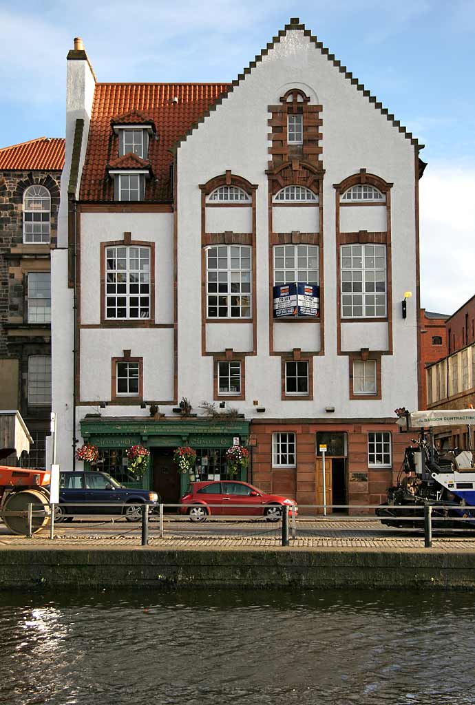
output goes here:
[{"label": "orange road roller with large steel drum, at far left", "polygon": [[[47,470],[23,470],[0,465],[0,518],[13,534],[27,533],[27,507],[32,505],[32,532],[49,522],[49,483]],[[44,513],[35,514],[38,510]],[[11,515],[11,512],[22,513]]]}]

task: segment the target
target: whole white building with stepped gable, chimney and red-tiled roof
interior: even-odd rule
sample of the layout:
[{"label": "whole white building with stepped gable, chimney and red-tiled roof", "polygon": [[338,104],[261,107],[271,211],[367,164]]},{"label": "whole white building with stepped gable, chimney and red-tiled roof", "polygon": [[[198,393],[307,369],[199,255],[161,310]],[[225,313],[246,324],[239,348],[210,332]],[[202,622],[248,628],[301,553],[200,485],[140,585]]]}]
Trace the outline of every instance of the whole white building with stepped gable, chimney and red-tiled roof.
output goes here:
[{"label": "whole white building with stepped gable, chimney and red-tiled roof", "polygon": [[141,443],[176,501],[174,448],[226,479],[239,437],[242,479],[317,503],[326,443],[333,503],[380,501],[417,407],[417,141],[297,19],[232,85],[97,83],[78,44],[67,121],[62,467],[87,441],[130,482]]}]

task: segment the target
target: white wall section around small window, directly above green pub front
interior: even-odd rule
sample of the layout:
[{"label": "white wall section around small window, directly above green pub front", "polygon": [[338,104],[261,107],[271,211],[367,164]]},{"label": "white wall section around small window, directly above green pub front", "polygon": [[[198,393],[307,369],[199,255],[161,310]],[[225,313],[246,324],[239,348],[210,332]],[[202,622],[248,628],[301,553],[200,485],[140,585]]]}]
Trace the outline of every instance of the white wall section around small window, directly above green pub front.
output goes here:
[{"label": "white wall section around small window, directly above green pub front", "polygon": [[[173,329],[82,329],[80,336],[80,398],[111,399],[111,360],[130,350],[143,357],[144,399],[173,399]],[[130,410],[130,407],[128,407]],[[129,411],[130,413],[130,411]]]}]

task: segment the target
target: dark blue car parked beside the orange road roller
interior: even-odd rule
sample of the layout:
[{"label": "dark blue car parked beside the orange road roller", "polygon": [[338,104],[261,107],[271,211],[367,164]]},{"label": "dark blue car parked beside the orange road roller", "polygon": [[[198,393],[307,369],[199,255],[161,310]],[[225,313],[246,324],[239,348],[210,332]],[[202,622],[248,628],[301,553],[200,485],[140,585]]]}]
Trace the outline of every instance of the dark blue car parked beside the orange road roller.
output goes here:
[{"label": "dark blue car parked beside the orange road roller", "polygon": [[[61,472],[59,476],[59,504],[55,508],[55,521],[72,521],[76,515],[122,514],[128,522],[140,521],[142,506],[152,508],[159,496],[144,489],[129,489],[106,472]],[[68,507],[69,503],[94,503],[96,506]],[[116,506],[104,506],[104,503]]]}]

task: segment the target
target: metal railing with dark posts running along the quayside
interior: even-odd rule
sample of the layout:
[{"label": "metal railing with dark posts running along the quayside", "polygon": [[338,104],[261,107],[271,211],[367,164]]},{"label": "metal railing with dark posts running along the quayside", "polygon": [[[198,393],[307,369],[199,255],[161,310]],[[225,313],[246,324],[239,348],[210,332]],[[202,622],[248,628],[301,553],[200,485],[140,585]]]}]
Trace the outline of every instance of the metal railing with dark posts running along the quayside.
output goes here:
[{"label": "metal railing with dark posts running along the quayside", "polygon": [[[80,515],[75,514],[73,511],[69,513],[71,517],[75,516],[81,516],[81,517],[91,517],[91,515],[86,515],[84,513],[85,508],[94,508],[97,510],[100,508],[101,510],[104,509],[104,511],[101,511],[99,513],[96,513],[94,517],[97,516],[103,516],[103,515],[108,515],[109,521],[110,522],[117,522],[117,520],[120,519],[125,519],[125,516],[123,515],[123,510],[125,507],[130,507],[130,503],[62,503],[61,507],[66,508],[66,509],[74,509],[75,507],[81,508],[81,513]],[[164,505],[163,503],[160,503],[158,505],[154,503],[145,503],[145,504],[134,504],[133,506],[136,506],[137,508],[140,507],[140,526],[138,525],[139,522],[139,517],[137,515],[137,526],[132,527],[130,529],[130,532],[136,532],[138,529],[141,531],[141,545],[142,546],[148,546],[149,545],[149,539],[152,534],[154,538],[159,538],[159,539],[164,539],[167,537],[175,537],[177,534],[177,529],[176,525],[180,525],[182,521],[190,520],[190,516],[187,515],[187,511],[190,509],[190,507],[197,507],[196,504],[167,504]],[[237,520],[238,522],[242,523],[243,520],[251,520],[252,522],[256,521],[259,522],[259,519],[264,519],[265,520],[265,515],[264,515],[264,510],[266,508],[269,508],[270,505],[264,505],[264,506],[259,506],[260,510],[260,515],[256,514],[250,514],[250,513],[242,513],[242,510],[256,510],[256,505],[255,504],[233,504],[233,503],[226,503],[226,504],[219,504],[219,505],[199,505],[204,507],[206,510],[206,515],[205,518],[211,520],[211,522],[223,522],[223,521],[228,521],[230,522],[230,525],[233,525],[233,520]],[[276,506],[276,505],[273,505]],[[108,508],[114,508],[116,509],[117,513],[114,514],[108,514],[107,509]],[[230,508],[233,510],[235,509],[236,512],[235,514],[232,515],[226,515],[226,520],[223,517],[223,515],[219,515],[218,513],[213,513],[214,510],[220,509],[220,508],[226,508],[227,512],[229,511]],[[374,513],[374,510],[376,508],[381,509],[381,505],[300,505],[299,507],[299,512],[300,512],[300,517],[297,519],[297,513],[293,511],[292,506],[290,505],[279,505],[278,507],[280,509],[280,517],[278,517],[278,520],[273,520],[272,527],[269,529],[269,532],[263,532],[259,531],[256,534],[251,534],[252,536],[257,536],[257,537],[262,537],[265,536],[266,534],[273,534],[273,539],[278,540],[281,546],[291,546],[292,542],[295,541],[297,538],[302,538],[302,537],[308,537],[312,532],[315,533],[316,529],[315,526],[318,527],[321,525],[323,529],[331,529],[331,531],[340,531],[340,532],[358,532],[360,529],[358,528],[358,524],[361,522],[378,522],[378,526],[381,527],[381,523],[388,524],[391,527],[395,528],[405,528],[405,525],[407,525],[407,529],[414,529],[414,525],[417,525],[417,529],[424,529],[424,546],[426,548],[431,548],[432,547],[432,541],[433,541],[433,529],[434,529],[434,522],[436,523],[436,531],[442,530],[443,532],[447,532],[447,529],[444,527],[444,525],[447,522],[454,523],[456,522],[457,526],[460,526],[461,528],[452,528],[450,527],[450,533],[451,534],[459,534],[460,532],[465,531],[466,529],[463,529],[463,525],[468,524],[469,529],[472,529],[475,531],[475,507],[471,508],[470,506],[459,506],[455,507],[454,505],[418,505],[418,506],[407,506],[407,505],[386,505],[386,508],[389,510],[393,510],[394,508],[397,510],[397,515],[376,515]],[[166,514],[165,510],[170,510],[173,509],[175,510],[175,514],[170,515]],[[437,510],[436,515],[434,516],[433,510]],[[156,514],[151,514],[150,511],[154,510]],[[176,510],[181,510],[180,513]],[[305,513],[305,510],[307,510],[307,513]],[[345,512],[345,514],[342,513],[328,513],[328,510],[339,510]],[[414,510],[417,510],[417,514],[414,513]],[[452,511],[452,515],[448,515],[449,511]],[[453,512],[454,510],[457,510],[457,512],[462,512],[464,515],[454,515]],[[363,513],[359,514],[354,514],[355,511],[362,511]],[[351,512],[351,514],[350,514]],[[370,513],[371,512],[371,513]],[[444,515],[445,513],[445,515]],[[471,515],[473,513],[473,515]],[[178,514],[178,516],[177,516]],[[50,539],[54,539],[54,505],[47,505],[47,507],[39,509],[39,510],[34,510],[32,504],[27,505],[26,510],[18,510],[18,511],[9,511],[9,512],[4,512],[4,516],[20,516],[20,517],[25,517],[26,520],[26,531],[25,531],[25,536],[27,537],[32,537],[33,533],[33,518],[34,517],[47,517],[50,519]],[[66,514],[68,516],[68,514]],[[276,515],[274,515],[275,517]],[[273,518],[274,518],[273,517]],[[154,524],[158,522],[158,527],[156,530],[154,530]],[[106,523],[106,522],[104,522]],[[341,525],[344,523],[344,527],[342,528]],[[167,529],[165,525],[167,524]],[[201,525],[202,522],[199,522]],[[307,528],[307,525],[313,525],[310,528]],[[349,529],[348,525],[350,525],[352,528]],[[319,530],[323,530],[319,529]],[[363,527],[364,531],[367,531],[367,527]],[[180,529],[178,529],[178,532]],[[384,529],[381,529],[381,531],[384,533]],[[181,533],[183,534],[183,529],[181,529]],[[190,533],[190,532],[185,532],[185,533]],[[193,534],[197,534],[197,531],[192,532]],[[248,534],[246,534],[248,535]],[[202,538],[202,536],[199,536],[199,538]],[[221,537],[222,538],[222,537]],[[240,537],[241,538],[241,537]]]}]

